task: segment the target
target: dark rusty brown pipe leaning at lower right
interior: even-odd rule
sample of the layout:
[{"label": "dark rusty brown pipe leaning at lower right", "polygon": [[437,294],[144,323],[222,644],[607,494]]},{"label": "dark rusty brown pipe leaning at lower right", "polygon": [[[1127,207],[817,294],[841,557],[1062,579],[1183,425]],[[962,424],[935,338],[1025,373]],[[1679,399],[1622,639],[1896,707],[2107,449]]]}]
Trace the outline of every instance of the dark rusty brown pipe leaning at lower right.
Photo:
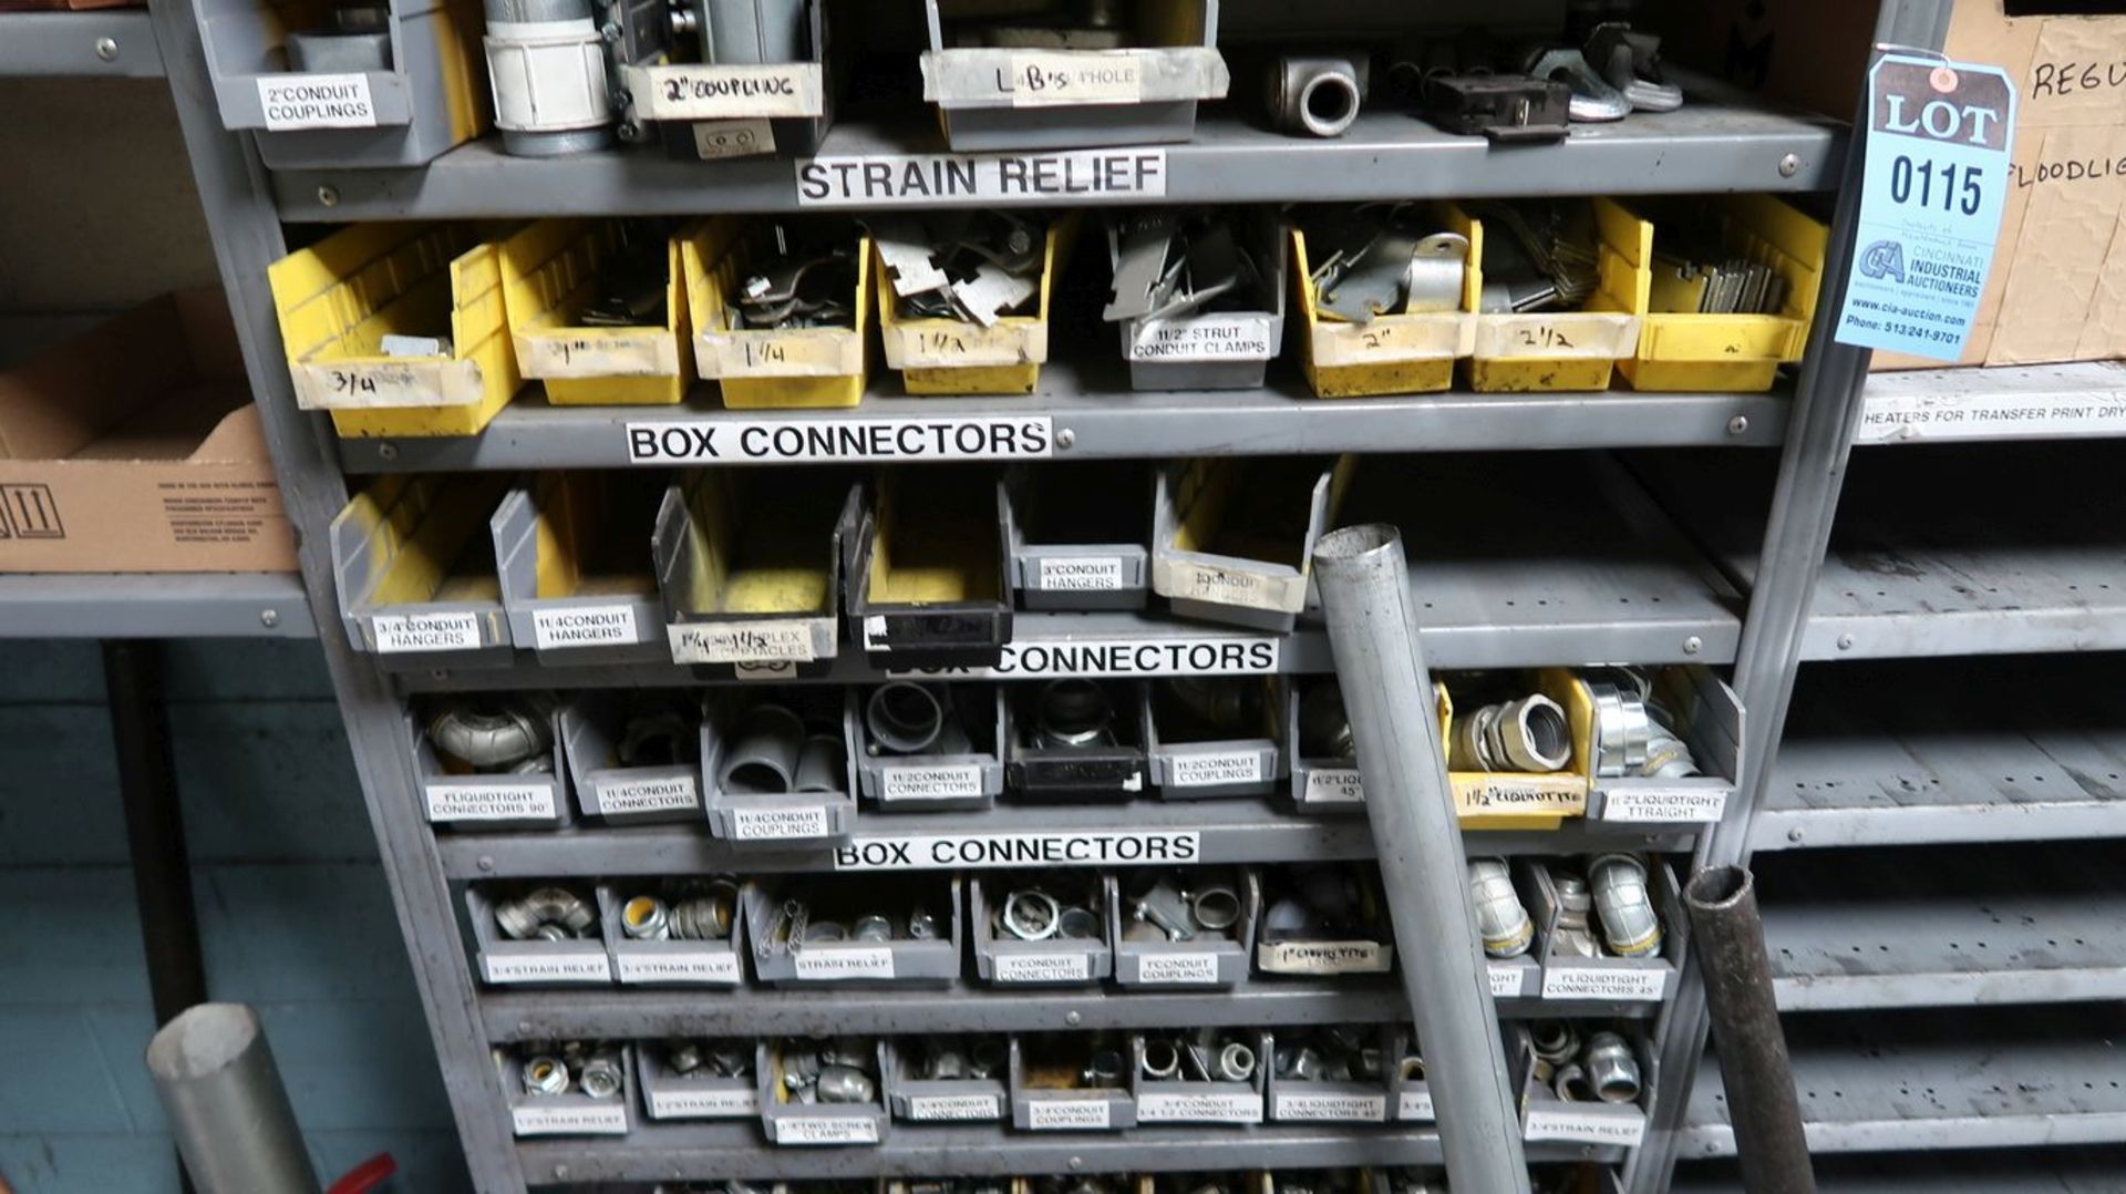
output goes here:
[{"label": "dark rusty brown pipe leaning at lower right", "polygon": [[1816,1194],[1794,1071],[1771,996],[1756,885],[1741,866],[1707,866],[1684,888],[1684,909],[1720,1045],[1720,1083],[1735,1124],[1741,1185],[1750,1194]]}]

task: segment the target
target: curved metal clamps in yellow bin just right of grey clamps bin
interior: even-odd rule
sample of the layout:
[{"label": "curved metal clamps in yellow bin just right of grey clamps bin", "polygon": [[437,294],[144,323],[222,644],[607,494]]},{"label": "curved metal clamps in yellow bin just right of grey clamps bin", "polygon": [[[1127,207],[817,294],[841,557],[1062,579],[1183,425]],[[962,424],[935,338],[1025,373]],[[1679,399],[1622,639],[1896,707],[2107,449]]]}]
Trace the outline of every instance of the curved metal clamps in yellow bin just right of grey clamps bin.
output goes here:
[{"label": "curved metal clamps in yellow bin just right of grey clamps bin", "polygon": [[1322,209],[1305,234],[1320,253],[1307,283],[1324,319],[1461,311],[1469,238],[1439,232],[1414,202]]}]

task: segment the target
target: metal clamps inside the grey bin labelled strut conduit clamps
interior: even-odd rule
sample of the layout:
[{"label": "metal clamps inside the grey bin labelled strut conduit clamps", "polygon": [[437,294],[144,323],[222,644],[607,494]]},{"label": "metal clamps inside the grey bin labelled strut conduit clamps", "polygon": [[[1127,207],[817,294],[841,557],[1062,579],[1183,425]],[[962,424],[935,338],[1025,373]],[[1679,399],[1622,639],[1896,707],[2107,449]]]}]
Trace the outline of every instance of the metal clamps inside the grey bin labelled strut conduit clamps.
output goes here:
[{"label": "metal clamps inside the grey bin labelled strut conduit clamps", "polygon": [[1267,311],[1263,268],[1233,213],[1140,211],[1108,223],[1114,296],[1101,319],[1159,324],[1214,311]]}]

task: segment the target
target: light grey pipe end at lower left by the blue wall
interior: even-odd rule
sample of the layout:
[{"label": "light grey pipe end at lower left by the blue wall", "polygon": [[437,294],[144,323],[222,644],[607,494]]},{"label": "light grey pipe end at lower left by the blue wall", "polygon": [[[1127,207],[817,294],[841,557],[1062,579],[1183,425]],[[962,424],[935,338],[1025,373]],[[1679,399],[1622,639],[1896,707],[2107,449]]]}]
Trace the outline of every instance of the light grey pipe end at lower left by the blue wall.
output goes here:
[{"label": "light grey pipe end at lower left by the blue wall", "polygon": [[187,1009],[149,1041],[147,1068],[202,1194],[319,1192],[281,1068],[249,1007]]}]

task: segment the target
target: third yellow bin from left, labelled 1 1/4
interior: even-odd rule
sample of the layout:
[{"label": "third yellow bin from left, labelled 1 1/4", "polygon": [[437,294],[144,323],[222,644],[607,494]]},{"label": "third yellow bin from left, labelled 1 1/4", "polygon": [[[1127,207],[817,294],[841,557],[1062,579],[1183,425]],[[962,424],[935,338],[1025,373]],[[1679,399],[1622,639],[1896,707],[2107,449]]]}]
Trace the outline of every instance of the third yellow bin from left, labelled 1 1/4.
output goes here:
[{"label": "third yellow bin from left, labelled 1 1/4", "polygon": [[859,236],[855,328],[733,328],[731,302],[746,270],[738,217],[716,217],[687,243],[687,292],[702,377],[723,387],[731,409],[855,407],[863,402],[872,334],[872,238]]}]

